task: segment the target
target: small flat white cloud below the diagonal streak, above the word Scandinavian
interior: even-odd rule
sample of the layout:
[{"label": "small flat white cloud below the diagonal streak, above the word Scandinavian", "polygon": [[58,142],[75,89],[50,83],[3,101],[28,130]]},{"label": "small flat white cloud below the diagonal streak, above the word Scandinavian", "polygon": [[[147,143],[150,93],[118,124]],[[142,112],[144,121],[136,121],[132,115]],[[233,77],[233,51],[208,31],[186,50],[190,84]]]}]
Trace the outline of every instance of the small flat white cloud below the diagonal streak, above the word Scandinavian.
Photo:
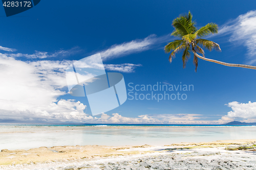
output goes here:
[{"label": "small flat white cloud below the diagonal streak, above the word Scandinavian", "polygon": [[120,72],[134,72],[134,69],[138,66],[142,66],[141,64],[105,64],[104,67],[107,70],[111,71],[120,71]]}]

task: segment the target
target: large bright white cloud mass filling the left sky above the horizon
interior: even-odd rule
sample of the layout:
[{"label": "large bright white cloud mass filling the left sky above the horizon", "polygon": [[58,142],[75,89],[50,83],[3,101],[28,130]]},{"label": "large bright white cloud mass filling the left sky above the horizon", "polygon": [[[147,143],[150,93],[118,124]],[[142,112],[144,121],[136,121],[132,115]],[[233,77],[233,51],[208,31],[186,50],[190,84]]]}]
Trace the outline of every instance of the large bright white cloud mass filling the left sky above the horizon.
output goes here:
[{"label": "large bright white cloud mass filling the left sky above the horizon", "polygon": [[24,62],[0,55],[0,117],[14,120],[82,122],[92,119],[85,105],[57,100],[66,94],[65,69],[71,61]]}]

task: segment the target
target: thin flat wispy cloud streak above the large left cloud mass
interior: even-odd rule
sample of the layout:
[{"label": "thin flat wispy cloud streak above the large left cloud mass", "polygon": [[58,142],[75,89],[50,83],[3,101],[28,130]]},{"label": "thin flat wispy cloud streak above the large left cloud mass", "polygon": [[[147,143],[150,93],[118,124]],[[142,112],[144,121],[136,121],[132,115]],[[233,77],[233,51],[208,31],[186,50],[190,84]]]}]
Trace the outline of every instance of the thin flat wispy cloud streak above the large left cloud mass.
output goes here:
[{"label": "thin flat wispy cloud streak above the large left cloud mass", "polygon": [[44,58],[49,58],[49,57],[65,57],[65,56],[70,56],[74,55],[76,53],[81,52],[79,47],[73,47],[70,50],[59,50],[55,53],[49,54],[48,52],[39,52],[35,51],[34,54],[22,54],[22,53],[17,53],[17,54],[5,54],[9,57],[25,57],[29,59],[44,59]]}]

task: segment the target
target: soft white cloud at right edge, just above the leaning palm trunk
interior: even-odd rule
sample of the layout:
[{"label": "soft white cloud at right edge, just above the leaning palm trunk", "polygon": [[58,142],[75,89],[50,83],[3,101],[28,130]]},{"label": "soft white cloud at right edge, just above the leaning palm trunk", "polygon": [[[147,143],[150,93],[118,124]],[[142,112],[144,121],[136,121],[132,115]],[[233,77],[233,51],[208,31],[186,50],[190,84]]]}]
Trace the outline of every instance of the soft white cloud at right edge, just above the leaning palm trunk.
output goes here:
[{"label": "soft white cloud at right edge, just above the leaning palm trunk", "polygon": [[256,62],[256,11],[249,11],[227,22],[218,35],[226,34],[231,34],[230,42],[247,47],[248,64]]}]

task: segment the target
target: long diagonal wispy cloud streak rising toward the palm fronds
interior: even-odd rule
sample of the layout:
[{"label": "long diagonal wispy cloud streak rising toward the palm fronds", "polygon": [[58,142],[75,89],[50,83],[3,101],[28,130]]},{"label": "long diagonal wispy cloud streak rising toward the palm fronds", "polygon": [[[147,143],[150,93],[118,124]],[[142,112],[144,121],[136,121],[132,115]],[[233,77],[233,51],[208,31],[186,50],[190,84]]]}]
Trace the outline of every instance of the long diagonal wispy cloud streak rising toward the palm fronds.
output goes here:
[{"label": "long diagonal wispy cloud streak rising toward the palm fronds", "polygon": [[170,35],[164,35],[157,37],[155,34],[152,34],[144,39],[136,39],[130,42],[124,42],[121,44],[114,44],[107,50],[101,51],[100,55],[103,60],[113,59],[117,57],[122,57],[125,55],[140,53],[143,51],[150,50],[153,46],[157,46],[161,43],[172,40]]}]

